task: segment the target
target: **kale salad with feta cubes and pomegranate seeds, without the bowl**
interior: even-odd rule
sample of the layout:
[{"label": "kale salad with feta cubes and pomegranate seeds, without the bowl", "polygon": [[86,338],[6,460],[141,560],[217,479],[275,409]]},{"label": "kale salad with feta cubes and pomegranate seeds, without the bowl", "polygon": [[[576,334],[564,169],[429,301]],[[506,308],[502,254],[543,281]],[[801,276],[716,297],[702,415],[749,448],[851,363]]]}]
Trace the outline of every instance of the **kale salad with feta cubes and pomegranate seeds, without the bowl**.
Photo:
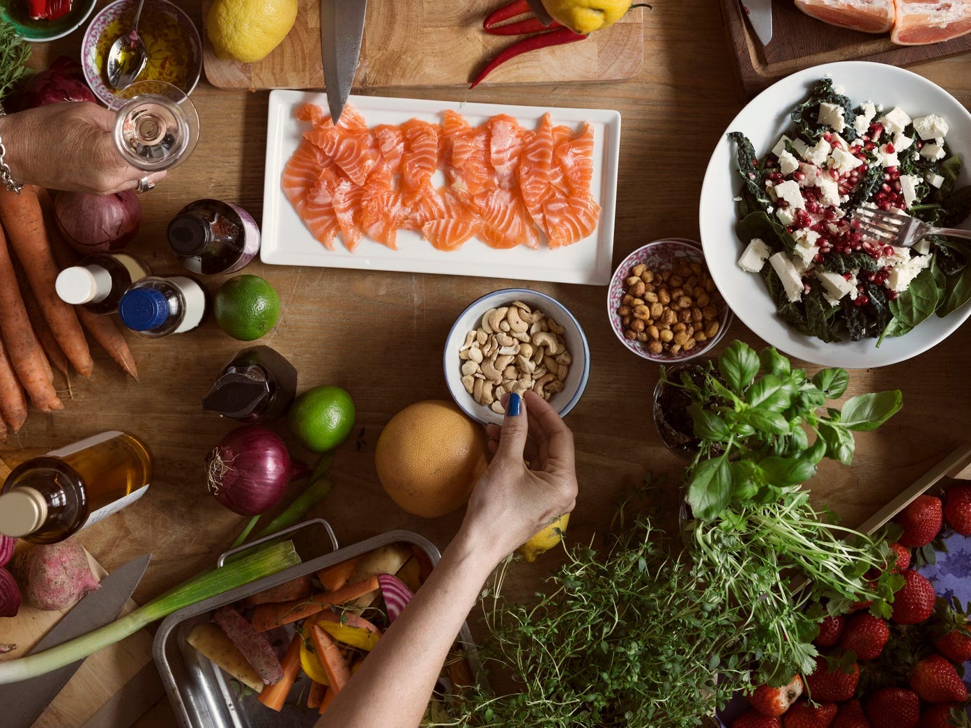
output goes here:
[{"label": "kale salad with feta cubes and pomegranate seeds, without the bowl", "polygon": [[949,149],[948,120],[854,106],[830,79],[789,116],[793,126],[762,156],[743,133],[728,135],[744,181],[738,264],[762,275],[779,316],[824,342],[879,346],[971,299],[971,243],[932,236],[895,248],[851,224],[861,205],[945,227],[971,215],[971,186],[954,185],[961,158]]}]

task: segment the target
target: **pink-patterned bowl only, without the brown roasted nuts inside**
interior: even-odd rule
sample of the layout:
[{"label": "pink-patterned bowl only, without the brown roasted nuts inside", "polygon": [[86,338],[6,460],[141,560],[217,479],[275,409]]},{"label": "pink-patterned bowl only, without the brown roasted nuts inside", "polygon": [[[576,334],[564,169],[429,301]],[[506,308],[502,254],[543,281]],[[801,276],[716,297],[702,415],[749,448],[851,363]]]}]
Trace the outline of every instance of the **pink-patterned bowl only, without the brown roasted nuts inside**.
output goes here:
[{"label": "pink-patterned bowl only, without the brown roasted nuts inside", "polygon": [[720,342],[721,337],[728,330],[728,324],[731,323],[731,311],[724,301],[720,301],[718,333],[704,343],[691,348],[689,351],[680,351],[677,354],[669,354],[666,352],[653,354],[648,350],[646,344],[631,341],[624,337],[621,316],[617,312],[620,306],[620,299],[623,298],[624,281],[630,276],[630,269],[638,263],[644,263],[648,266],[649,270],[664,271],[670,269],[679,258],[684,258],[691,263],[700,263],[707,269],[705,254],[701,251],[701,247],[697,243],[682,238],[655,240],[653,243],[648,243],[646,246],[637,248],[620,261],[620,265],[614,271],[614,277],[611,279],[610,288],[607,291],[607,316],[610,318],[611,328],[614,329],[614,335],[619,339],[620,344],[638,356],[656,362],[657,364],[674,364],[704,354]]}]

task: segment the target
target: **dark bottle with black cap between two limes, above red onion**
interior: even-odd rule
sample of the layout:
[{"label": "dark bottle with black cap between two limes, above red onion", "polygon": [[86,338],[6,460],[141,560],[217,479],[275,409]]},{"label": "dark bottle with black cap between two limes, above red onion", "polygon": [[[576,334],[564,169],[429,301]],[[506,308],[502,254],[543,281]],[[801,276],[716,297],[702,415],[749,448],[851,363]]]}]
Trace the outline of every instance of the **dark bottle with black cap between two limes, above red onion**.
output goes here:
[{"label": "dark bottle with black cap between two limes, above red onion", "polygon": [[207,412],[241,422],[268,422],[286,412],[297,393],[297,370],[270,347],[245,348],[202,400]]}]

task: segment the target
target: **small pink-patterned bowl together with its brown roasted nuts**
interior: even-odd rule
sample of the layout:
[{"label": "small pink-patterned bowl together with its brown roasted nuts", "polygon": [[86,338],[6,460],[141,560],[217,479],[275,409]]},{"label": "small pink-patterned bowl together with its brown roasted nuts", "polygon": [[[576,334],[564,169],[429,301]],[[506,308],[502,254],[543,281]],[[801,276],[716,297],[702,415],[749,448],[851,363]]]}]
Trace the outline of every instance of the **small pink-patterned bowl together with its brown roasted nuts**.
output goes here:
[{"label": "small pink-patterned bowl together with its brown roasted nuts", "polygon": [[607,314],[624,347],[661,364],[703,354],[731,321],[701,246],[678,238],[654,241],[623,259]]}]

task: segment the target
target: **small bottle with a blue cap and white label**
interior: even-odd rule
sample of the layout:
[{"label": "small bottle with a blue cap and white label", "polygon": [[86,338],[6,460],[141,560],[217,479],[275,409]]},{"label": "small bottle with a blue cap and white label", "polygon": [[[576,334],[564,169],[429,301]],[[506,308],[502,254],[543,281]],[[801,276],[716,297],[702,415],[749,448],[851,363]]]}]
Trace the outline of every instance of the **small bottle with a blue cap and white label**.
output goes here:
[{"label": "small bottle with a blue cap and white label", "polygon": [[206,292],[186,276],[148,276],[121,296],[118,317],[139,336],[157,339],[194,329],[206,311]]}]

